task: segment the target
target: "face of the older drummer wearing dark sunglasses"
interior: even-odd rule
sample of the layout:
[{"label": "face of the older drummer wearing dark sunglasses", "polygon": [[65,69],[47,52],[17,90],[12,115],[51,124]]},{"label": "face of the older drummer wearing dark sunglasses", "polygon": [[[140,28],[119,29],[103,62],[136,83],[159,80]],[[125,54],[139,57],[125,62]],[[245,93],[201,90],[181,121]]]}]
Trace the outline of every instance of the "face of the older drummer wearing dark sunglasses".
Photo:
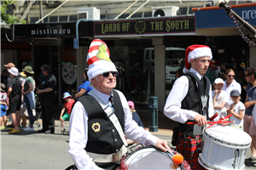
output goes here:
[{"label": "face of the older drummer wearing dark sunglasses", "polygon": [[116,77],[114,77],[111,71],[109,71],[108,77],[103,77],[98,75],[95,78],[91,79],[93,87],[103,94],[110,94],[111,90],[116,86]]}]

